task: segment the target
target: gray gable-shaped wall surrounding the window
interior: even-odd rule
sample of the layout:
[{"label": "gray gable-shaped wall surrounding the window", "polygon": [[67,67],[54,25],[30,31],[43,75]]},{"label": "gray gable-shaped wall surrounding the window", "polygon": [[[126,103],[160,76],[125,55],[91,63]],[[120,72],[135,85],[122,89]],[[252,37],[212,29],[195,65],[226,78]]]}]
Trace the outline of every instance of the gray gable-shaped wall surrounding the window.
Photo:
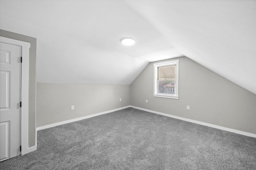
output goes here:
[{"label": "gray gable-shaped wall surrounding the window", "polygon": [[158,61],[132,82],[132,106],[256,134],[255,94],[186,57],[176,59],[179,99],[153,97],[153,64]]}]

